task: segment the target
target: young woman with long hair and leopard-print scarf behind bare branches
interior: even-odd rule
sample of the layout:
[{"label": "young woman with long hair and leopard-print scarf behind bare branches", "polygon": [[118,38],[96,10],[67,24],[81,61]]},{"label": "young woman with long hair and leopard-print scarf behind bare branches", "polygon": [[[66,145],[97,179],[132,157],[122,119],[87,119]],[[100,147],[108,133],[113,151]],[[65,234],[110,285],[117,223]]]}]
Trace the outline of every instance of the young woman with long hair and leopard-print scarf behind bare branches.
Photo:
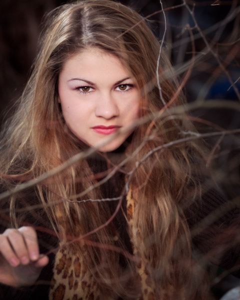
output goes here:
[{"label": "young woman with long hair and leopard-print scarf behind bare branches", "polygon": [[208,296],[192,241],[235,266],[238,248],[225,245],[239,214],[204,222],[224,200],[206,184],[183,104],[168,58],[130,8],[85,0],[48,15],[1,142],[4,297]]}]

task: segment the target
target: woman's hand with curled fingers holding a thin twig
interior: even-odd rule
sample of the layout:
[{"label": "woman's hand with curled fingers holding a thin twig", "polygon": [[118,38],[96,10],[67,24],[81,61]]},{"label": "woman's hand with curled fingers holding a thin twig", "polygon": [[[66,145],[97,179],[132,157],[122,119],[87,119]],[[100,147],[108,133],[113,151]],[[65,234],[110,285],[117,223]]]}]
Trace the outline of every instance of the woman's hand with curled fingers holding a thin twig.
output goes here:
[{"label": "woman's hand with curled fingers holding a thin twig", "polygon": [[39,254],[36,231],[24,226],[0,234],[0,282],[14,287],[32,285],[48,257]]}]

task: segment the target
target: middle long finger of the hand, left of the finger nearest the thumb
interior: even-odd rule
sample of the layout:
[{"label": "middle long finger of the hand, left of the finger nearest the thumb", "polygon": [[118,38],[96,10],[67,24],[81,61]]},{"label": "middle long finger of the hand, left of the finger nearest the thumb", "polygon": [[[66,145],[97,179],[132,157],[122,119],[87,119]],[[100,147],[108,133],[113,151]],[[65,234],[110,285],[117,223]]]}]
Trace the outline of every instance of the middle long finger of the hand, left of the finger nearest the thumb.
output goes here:
[{"label": "middle long finger of the hand, left of the finger nearest the thumb", "polygon": [[22,264],[27,264],[29,262],[29,255],[21,232],[17,229],[7,229],[3,235],[7,236],[9,243],[20,262]]}]

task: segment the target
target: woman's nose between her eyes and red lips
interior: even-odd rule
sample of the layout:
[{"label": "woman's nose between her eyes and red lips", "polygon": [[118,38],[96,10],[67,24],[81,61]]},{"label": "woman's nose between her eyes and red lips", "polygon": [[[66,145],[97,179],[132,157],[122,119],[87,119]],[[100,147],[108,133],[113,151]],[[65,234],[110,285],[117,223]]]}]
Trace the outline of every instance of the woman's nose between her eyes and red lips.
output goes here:
[{"label": "woman's nose between her eyes and red lips", "polygon": [[95,115],[105,119],[111,119],[119,115],[117,103],[110,93],[99,95],[95,106]]}]

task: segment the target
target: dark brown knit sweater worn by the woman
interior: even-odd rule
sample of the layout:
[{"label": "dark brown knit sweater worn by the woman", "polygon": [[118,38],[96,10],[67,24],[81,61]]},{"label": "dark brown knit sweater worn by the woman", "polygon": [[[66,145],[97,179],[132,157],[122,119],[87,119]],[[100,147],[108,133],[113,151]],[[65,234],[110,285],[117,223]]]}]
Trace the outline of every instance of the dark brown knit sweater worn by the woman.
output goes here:
[{"label": "dark brown knit sweater worn by the woman", "polygon": [[[30,200],[29,200],[30,199]],[[34,192],[22,196],[20,206],[36,201]],[[33,226],[50,228],[46,223],[43,210],[26,215]],[[192,234],[193,253],[201,265],[208,261],[229,270],[240,277],[240,210],[236,204],[227,201],[216,189],[205,188],[199,201],[194,202],[185,210],[185,216]],[[6,217],[1,215],[1,231],[7,225]],[[37,230],[40,252],[47,253],[57,244],[57,239],[49,233]],[[126,238],[127,240],[128,238]],[[49,263],[43,268],[37,284],[30,287],[11,288],[0,285],[0,299],[38,300],[47,299],[49,283],[52,277],[54,254],[49,255]]]}]

